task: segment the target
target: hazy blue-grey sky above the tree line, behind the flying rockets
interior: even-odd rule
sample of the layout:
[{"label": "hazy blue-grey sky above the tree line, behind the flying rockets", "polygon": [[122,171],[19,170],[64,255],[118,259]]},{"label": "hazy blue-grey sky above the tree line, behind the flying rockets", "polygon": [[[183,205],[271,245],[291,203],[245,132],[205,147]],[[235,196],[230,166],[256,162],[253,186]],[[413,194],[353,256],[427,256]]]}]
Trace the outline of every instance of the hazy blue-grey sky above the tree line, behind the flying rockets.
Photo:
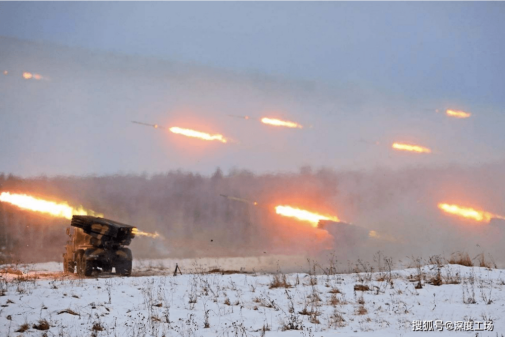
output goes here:
[{"label": "hazy blue-grey sky above the tree line, behind the flying rockets", "polygon": [[[9,71],[0,172],[503,160],[504,31],[502,2],[0,2],[0,70]],[[450,119],[446,108],[473,116]],[[197,125],[235,142],[187,141],[131,120]],[[393,141],[433,153],[398,153]]]}]

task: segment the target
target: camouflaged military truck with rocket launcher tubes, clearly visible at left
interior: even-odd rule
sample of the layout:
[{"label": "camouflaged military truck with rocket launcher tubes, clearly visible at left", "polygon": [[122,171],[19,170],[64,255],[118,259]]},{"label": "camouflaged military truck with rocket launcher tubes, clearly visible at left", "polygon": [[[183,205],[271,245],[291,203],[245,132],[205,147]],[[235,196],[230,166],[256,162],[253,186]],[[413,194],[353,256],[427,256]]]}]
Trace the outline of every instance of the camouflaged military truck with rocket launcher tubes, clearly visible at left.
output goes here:
[{"label": "camouflaged military truck with rocket launcher tubes, clearly visible at left", "polygon": [[129,276],[131,274],[131,250],[124,247],[135,237],[134,226],[95,217],[74,215],[67,228],[69,240],[63,254],[63,271],[81,277],[95,272],[112,272]]}]

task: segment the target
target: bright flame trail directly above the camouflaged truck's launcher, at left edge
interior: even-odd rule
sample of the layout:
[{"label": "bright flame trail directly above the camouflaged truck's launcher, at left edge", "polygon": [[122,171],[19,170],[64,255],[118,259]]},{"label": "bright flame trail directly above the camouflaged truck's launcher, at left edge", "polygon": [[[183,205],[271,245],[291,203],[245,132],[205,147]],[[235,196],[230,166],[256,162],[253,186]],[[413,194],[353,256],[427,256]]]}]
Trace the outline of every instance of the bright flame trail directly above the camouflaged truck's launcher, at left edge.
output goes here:
[{"label": "bright flame trail directly above the camouflaged truck's launcher, at left edge", "polygon": [[11,194],[9,192],[2,192],[2,194],[0,194],[0,201],[9,202],[22,209],[47,213],[53,216],[65,217],[67,219],[71,219],[72,215],[104,216],[103,214],[98,214],[92,210],[86,210],[82,207],[71,207],[66,202],[56,203],[54,201],[34,198],[26,194]]}]

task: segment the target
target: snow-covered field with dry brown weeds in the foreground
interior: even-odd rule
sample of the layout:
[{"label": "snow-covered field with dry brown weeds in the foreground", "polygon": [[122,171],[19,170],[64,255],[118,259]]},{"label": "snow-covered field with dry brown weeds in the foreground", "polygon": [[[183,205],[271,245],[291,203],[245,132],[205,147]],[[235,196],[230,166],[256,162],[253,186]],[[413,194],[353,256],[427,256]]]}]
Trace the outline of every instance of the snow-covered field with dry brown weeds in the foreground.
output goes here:
[{"label": "snow-covered field with dry brown weeds in the foreground", "polygon": [[284,274],[237,267],[248,259],[254,258],[178,260],[183,274],[177,276],[175,260],[134,260],[131,277],[87,279],[63,274],[56,262],[3,265],[0,336],[494,337],[505,331],[500,269],[418,264],[372,272],[362,264],[357,272],[334,273],[312,265],[313,272],[306,266]]}]

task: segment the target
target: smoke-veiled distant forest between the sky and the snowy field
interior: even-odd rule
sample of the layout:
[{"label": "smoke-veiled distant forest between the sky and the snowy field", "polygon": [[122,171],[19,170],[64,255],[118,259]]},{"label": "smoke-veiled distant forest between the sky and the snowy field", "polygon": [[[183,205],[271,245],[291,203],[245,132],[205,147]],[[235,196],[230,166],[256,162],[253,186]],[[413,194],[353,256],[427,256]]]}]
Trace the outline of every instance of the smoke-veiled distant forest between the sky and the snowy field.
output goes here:
[{"label": "smoke-veiled distant forest between the sky and the snowy field", "polygon": [[[210,176],[172,171],[151,176],[29,179],[0,174],[0,192],[82,205],[141,231],[158,232],[162,238],[133,240],[130,248],[137,258],[310,255],[339,248],[326,231],[276,214],[276,205],[336,215],[394,236],[401,246],[384,242],[382,248],[399,257],[472,251],[475,247],[501,255],[502,245],[495,242],[503,238],[501,227],[476,226],[447,216],[437,208],[437,202],[459,202],[504,214],[504,167],[500,162],[473,168],[343,173],[302,167],[296,173],[262,175],[244,170],[225,175],[217,168]],[[0,202],[0,262],[62,260],[69,224],[65,218]],[[374,252],[361,253],[370,257]]]}]

